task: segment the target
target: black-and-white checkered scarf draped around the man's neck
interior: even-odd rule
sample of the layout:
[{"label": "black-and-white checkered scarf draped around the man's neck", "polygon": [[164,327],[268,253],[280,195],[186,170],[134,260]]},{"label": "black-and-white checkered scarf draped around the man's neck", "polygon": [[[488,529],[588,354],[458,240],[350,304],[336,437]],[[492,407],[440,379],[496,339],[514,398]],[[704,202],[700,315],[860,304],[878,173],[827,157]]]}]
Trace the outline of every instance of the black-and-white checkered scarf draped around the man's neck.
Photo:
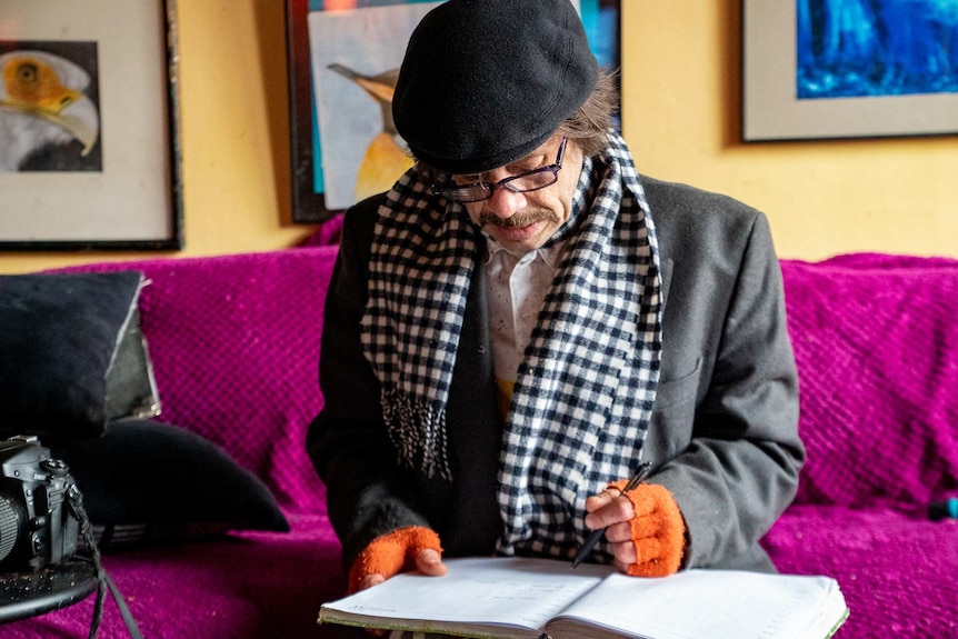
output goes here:
[{"label": "black-and-white checkered scarf draped around the man's neck", "polygon": [[[586,497],[631,475],[651,416],[661,359],[658,248],[618,134],[586,162],[578,197],[586,189],[588,210],[560,230],[567,248],[503,432],[503,555],[575,552],[588,535]],[[477,232],[415,169],[388,193],[376,227],[362,345],[400,462],[429,477],[451,479],[445,409]],[[608,558],[602,547],[597,553]]]}]

